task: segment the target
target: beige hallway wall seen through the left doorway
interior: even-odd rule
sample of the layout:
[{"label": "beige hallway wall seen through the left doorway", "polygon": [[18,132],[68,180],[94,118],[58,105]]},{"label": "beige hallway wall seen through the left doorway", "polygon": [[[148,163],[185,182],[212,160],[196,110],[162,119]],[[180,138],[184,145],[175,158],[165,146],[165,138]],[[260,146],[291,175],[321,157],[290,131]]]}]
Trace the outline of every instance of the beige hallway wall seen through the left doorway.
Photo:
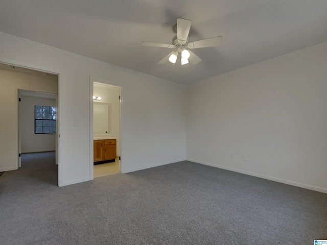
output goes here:
[{"label": "beige hallway wall seen through the left doorway", "polygon": [[9,171],[18,168],[18,89],[56,94],[58,83],[54,75],[0,70],[0,87],[0,171]]}]

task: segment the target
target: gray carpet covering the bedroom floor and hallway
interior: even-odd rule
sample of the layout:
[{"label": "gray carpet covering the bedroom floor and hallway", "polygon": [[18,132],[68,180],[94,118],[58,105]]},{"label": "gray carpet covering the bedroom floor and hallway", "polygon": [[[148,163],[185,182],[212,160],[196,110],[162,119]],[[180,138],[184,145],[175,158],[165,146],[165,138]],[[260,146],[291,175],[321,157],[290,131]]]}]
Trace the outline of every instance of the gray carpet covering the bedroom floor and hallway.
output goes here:
[{"label": "gray carpet covering the bedroom floor and hallway", "polygon": [[59,188],[53,153],[23,157],[0,177],[1,244],[327,239],[327,194],[188,161]]}]

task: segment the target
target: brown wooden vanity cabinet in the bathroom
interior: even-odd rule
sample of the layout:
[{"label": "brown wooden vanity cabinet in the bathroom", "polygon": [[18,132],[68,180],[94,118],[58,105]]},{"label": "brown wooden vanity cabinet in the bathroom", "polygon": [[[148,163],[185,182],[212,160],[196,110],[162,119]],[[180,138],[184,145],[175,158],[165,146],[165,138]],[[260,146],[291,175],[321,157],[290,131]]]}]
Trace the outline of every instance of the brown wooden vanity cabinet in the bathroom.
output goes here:
[{"label": "brown wooden vanity cabinet in the bathroom", "polygon": [[93,141],[94,162],[116,159],[116,139]]}]

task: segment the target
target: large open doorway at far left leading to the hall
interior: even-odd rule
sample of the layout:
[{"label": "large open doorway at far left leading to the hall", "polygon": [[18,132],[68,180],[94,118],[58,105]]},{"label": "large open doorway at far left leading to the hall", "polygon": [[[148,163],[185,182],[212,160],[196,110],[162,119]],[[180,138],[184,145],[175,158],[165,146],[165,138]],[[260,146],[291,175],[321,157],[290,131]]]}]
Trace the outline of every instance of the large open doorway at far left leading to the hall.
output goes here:
[{"label": "large open doorway at far left leading to the hall", "polygon": [[[52,176],[47,175],[44,172],[39,175],[40,178],[36,177],[36,179],[41,180],[42,182],[51,182],[52,184],[59,185],[59,141],[57,131],[57,108],[59,105],[58,74],[0,63],[0,78],[2,79],[2,85],[4,88],[2,97],[4,98],[3,105],[5,105],[5,107],[3,107],[2,110],[4,109],[5,111],[3,111],[3,114],[6,114],[7,117],[10,118],[10,120],[2,120],[2,139],[8,142],[8,148],[5,150],[3,149],[2,155],[4,158],[10,158],[10,161],[4,161],[5,163],[8,163],[8,167],[5,168],[5,171],[8,171],[8,173],[5,174],[14,174],[16,171],[11,170],[19,169],[18,172],[20,174],[26,173],[27,177],[33,176],[31,173],[46,169],[42,168],[46,164],[43,166],[41,165],[40,168],[37,169],[36,163],[43,161],[51,163],[49,169],[52,169]],[[6,94],[10,94],[10,96],[7,96]],[[44,102],[47,100],[48,102],[51,101],[51,105]],[[41,103],[41,101],[43,101],[43,103]],[[46,132],[45,129],[43,135],[37,135],[40,127],[35,127],[35,106],[39,105],[47,106],[48,109],[51,107],[56,108],[56,118],[53,120],[51,125],[49,123],[49,132]],[[6,110],[8,108],[11,108],[10,113]],[[48,112],[48,116],[49,114],[50,113]],[[48,119],[49,122],[50,118]],[[44,126],[45,125],[46,122]],[[50,133],[52,133],[50,136],[51,139],[48,137]],[[44,154],[41,156],[41,153]],[[24,154],[26,155],[23,157],[22,155]],[[22,159],[23,161],[27,161],[26,163],[31,166],[30,169],[21,169]],[[29,170],[30,172],[27,173],[26,170]],[[45,176],[47,176],[46,179],[50,182],[44,179]]]}]

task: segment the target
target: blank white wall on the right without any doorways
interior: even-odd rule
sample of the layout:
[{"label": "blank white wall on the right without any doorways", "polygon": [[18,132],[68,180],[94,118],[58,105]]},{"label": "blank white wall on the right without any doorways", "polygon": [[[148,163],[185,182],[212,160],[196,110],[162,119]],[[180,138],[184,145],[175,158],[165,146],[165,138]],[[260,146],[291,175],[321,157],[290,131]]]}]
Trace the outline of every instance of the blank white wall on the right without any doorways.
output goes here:
[{"label": "blank white wall on the right without any doorways", "polygon": [[187,106],[189,160],[327,192],[327,43],[191,85]]}]

